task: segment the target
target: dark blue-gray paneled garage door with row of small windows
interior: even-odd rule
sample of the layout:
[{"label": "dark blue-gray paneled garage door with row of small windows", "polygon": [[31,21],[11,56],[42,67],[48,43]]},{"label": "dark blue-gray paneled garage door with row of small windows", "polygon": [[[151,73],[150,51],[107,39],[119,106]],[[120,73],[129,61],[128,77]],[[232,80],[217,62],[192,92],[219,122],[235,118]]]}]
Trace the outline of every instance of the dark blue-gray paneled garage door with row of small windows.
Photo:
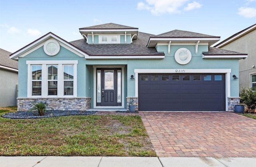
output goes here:
[{"label": "dark blue-gray paneled garage door with row of small windows", "polygon": [[139,74],[140,111],[225,111],[224,74]]}]

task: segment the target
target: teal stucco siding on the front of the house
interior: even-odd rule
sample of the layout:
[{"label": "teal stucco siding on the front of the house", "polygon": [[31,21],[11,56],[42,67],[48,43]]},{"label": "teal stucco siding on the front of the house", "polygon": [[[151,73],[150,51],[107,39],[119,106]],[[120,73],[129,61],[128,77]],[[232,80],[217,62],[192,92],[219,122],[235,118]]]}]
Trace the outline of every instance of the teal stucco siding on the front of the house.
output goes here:
[{"label": "teal stucco siding on the front of the house", "polygon": [[[96,43],[97,35],[94,36]],[[91,35],[88,36],[88,41]],[[124,37],[121,35],[121,41]],[[130,36],[127,35],[127,43]],[[174,59],[175,52],[181,47],[187,48],[192,54],[191,61],[186,65],[180,65]],[[230,96],[239,96],[239,81],[234,80],[232,75],[238,76],[238,59],[202,59],[202,52],[208,51],[208,45],[199,45],[198,53],[195,45],[171,45],[170,54],[168,53],[168,45],[158,45],[157,51],[164,52],[164,59],[85,59],[74,52],[61,46],[60,52],[55,56],[48,56],[44,53],[43,47],[40,47],[29,53],[25,57],[19,57],[19,97],[27,97],[28,84],[28,60],[78,60],[77,64],[77,97],[90,97],[91,107],[93,108],[94,100],[94,68],[93,65],[124,65],[124,106],[126,106],[126,97],[135,96],[135,80],[130,80],[130,76],[134,75],[134,69],[231,69],[230,74]]]}]

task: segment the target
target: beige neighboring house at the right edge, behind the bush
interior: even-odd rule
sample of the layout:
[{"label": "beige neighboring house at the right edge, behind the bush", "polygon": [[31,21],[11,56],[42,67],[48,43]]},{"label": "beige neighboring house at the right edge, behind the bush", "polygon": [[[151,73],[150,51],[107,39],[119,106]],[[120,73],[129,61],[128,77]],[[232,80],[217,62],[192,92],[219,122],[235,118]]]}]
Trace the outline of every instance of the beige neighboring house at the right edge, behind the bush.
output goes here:
[{"label": "beige neighboring house at the right edge, behind the bush", "polygon": [[248,58],[239,61],[239,86],[256,87],[256,24],[228,37],[214,47],[248,53]]}]

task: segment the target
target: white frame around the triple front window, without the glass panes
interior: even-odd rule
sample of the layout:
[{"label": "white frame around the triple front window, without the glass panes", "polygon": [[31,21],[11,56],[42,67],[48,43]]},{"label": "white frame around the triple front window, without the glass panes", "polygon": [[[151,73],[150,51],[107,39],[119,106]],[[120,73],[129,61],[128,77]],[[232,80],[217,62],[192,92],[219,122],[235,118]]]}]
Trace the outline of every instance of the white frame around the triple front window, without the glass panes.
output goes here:
[{"label": "white frame around the triple front window, without the glass panes", "polygon": [[[28,65],[28,97],[77,97],[77,60],[55,60],[55,61],[26,61]],[[41,96],[32,96],[32,65],[42,65],[42,92]],[[47,65],[58,65],[58,93],[57,96],[48,96],[48,78],[47,78]],[[73,95],[64,95],[64,79],[63,79],[63,65],[74,65],[74,83],[73,83]]]}]

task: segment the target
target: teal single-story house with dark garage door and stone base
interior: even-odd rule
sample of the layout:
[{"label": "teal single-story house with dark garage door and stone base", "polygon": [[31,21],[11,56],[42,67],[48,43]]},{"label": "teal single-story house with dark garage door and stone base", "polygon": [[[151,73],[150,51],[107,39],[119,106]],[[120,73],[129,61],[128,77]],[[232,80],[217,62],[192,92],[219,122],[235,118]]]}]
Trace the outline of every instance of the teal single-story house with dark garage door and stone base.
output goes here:
[{"label": "teal single-story house with dark garage door and stone base", "polygon": [[10,55],[19,61],[18,110],[35,101],[53,110],[129,110],[133,98],[140,111],[233,111],[239,102],[232,76],[247,54],[210,47],[220,37],[113,23],[79,31],[83,39],[49,32]]}]

